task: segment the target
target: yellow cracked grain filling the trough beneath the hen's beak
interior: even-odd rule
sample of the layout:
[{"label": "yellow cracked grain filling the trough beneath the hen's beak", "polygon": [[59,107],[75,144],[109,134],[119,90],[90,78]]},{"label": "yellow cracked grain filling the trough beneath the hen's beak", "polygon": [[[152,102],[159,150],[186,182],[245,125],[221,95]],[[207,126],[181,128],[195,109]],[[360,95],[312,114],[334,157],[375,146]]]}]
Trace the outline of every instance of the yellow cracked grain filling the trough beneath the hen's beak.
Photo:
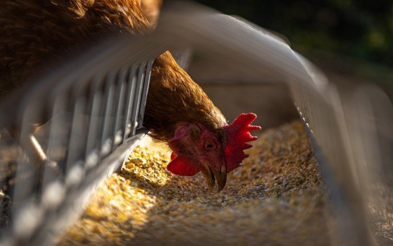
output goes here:
[{"label": "yellow cracked grain filling the trough beneath the hen's beak", "polygon": [[266,130],[225,189],[166,169],[168,151],[136,148],[60,245],[329,245],[327,192],[302,123]]}]

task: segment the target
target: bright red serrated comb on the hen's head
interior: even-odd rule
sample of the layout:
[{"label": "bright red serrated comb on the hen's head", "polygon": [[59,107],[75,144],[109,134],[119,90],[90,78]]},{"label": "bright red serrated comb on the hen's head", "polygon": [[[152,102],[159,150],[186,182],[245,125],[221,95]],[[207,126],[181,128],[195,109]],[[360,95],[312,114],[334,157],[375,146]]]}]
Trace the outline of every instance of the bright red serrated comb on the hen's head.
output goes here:
[{"label": "bright red serrated comb on the hen's head", "polygon": [[246,142],[256,140],[250,131],[260,130],[260,126],[250,125],[256,118],[253,113],[239,115],[230,125],[224,126],[226,128],[226,172],[229,173],[233,169],[240,167],[240,163],[249,155],[245,154],[243,150],[253,147]]}]

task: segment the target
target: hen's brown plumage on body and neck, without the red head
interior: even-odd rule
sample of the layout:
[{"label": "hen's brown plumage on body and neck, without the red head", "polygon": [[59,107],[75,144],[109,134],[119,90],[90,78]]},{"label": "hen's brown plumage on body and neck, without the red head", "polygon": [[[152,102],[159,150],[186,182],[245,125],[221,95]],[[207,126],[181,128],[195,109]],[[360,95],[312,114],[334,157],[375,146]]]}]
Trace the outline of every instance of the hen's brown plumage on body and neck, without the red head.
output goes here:
[{"label": "hen's brown plumage on body and neck, without the red head", "polygon": [[[138,0],[2,0],[0,97],[33,73],[53,69],[48,61],[83,52],[97,37],[151,30]],[[181,122],[199,122],[223,135],[225,118],[166,52],[153,64],[144,125],[155,140],[166,142]]]}]

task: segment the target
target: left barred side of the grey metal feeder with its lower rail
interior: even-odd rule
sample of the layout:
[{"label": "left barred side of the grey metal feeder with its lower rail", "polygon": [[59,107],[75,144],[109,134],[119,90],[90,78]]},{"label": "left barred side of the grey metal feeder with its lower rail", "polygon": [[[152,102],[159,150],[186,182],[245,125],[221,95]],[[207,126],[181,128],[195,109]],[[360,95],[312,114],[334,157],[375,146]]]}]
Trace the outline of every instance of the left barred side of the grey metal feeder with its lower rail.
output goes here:
[{"label": "left barred side of the grey metal feeder with its lower rail", "polygon": [[[22,155],[15,163],[15,184],[8,191],[12,228],[3,231],[5,242],[51,244],[147,133],[143,112],[151,66],[159,53],[108,62],[130,44],[113,48],[104,42],[99,45],[104,52],[93,49],[64,64],[61,72],[33,81],[23,97],[17,91],[6,99],[19,109],[12,114],[2,104],[0,118],[19,127],[23,149],[35,145],[45,159]],[[35,134],[33,124],[41,125]]]}]

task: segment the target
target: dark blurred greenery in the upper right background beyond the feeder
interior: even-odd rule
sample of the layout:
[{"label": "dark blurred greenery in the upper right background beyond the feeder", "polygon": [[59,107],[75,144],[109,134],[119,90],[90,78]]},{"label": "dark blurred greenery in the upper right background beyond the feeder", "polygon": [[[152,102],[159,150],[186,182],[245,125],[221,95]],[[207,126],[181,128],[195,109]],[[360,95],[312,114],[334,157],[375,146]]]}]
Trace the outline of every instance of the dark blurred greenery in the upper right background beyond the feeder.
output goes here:
[{"label": "dark blurred greenery in the upper right background beyond the feeder", "polygon": [[[317,57],[320,54],[339,54],[356,62],[371,63],[378,69],[383,67],[383,70],[390,71],[393,67],[392,0],[197,2],[282,33],[290,40],[294,50],[306,56],[318,51]],[[345,65],[346,62],[341,63]],[[364,65],[359,66],[359,70],[364,68]]]}]

